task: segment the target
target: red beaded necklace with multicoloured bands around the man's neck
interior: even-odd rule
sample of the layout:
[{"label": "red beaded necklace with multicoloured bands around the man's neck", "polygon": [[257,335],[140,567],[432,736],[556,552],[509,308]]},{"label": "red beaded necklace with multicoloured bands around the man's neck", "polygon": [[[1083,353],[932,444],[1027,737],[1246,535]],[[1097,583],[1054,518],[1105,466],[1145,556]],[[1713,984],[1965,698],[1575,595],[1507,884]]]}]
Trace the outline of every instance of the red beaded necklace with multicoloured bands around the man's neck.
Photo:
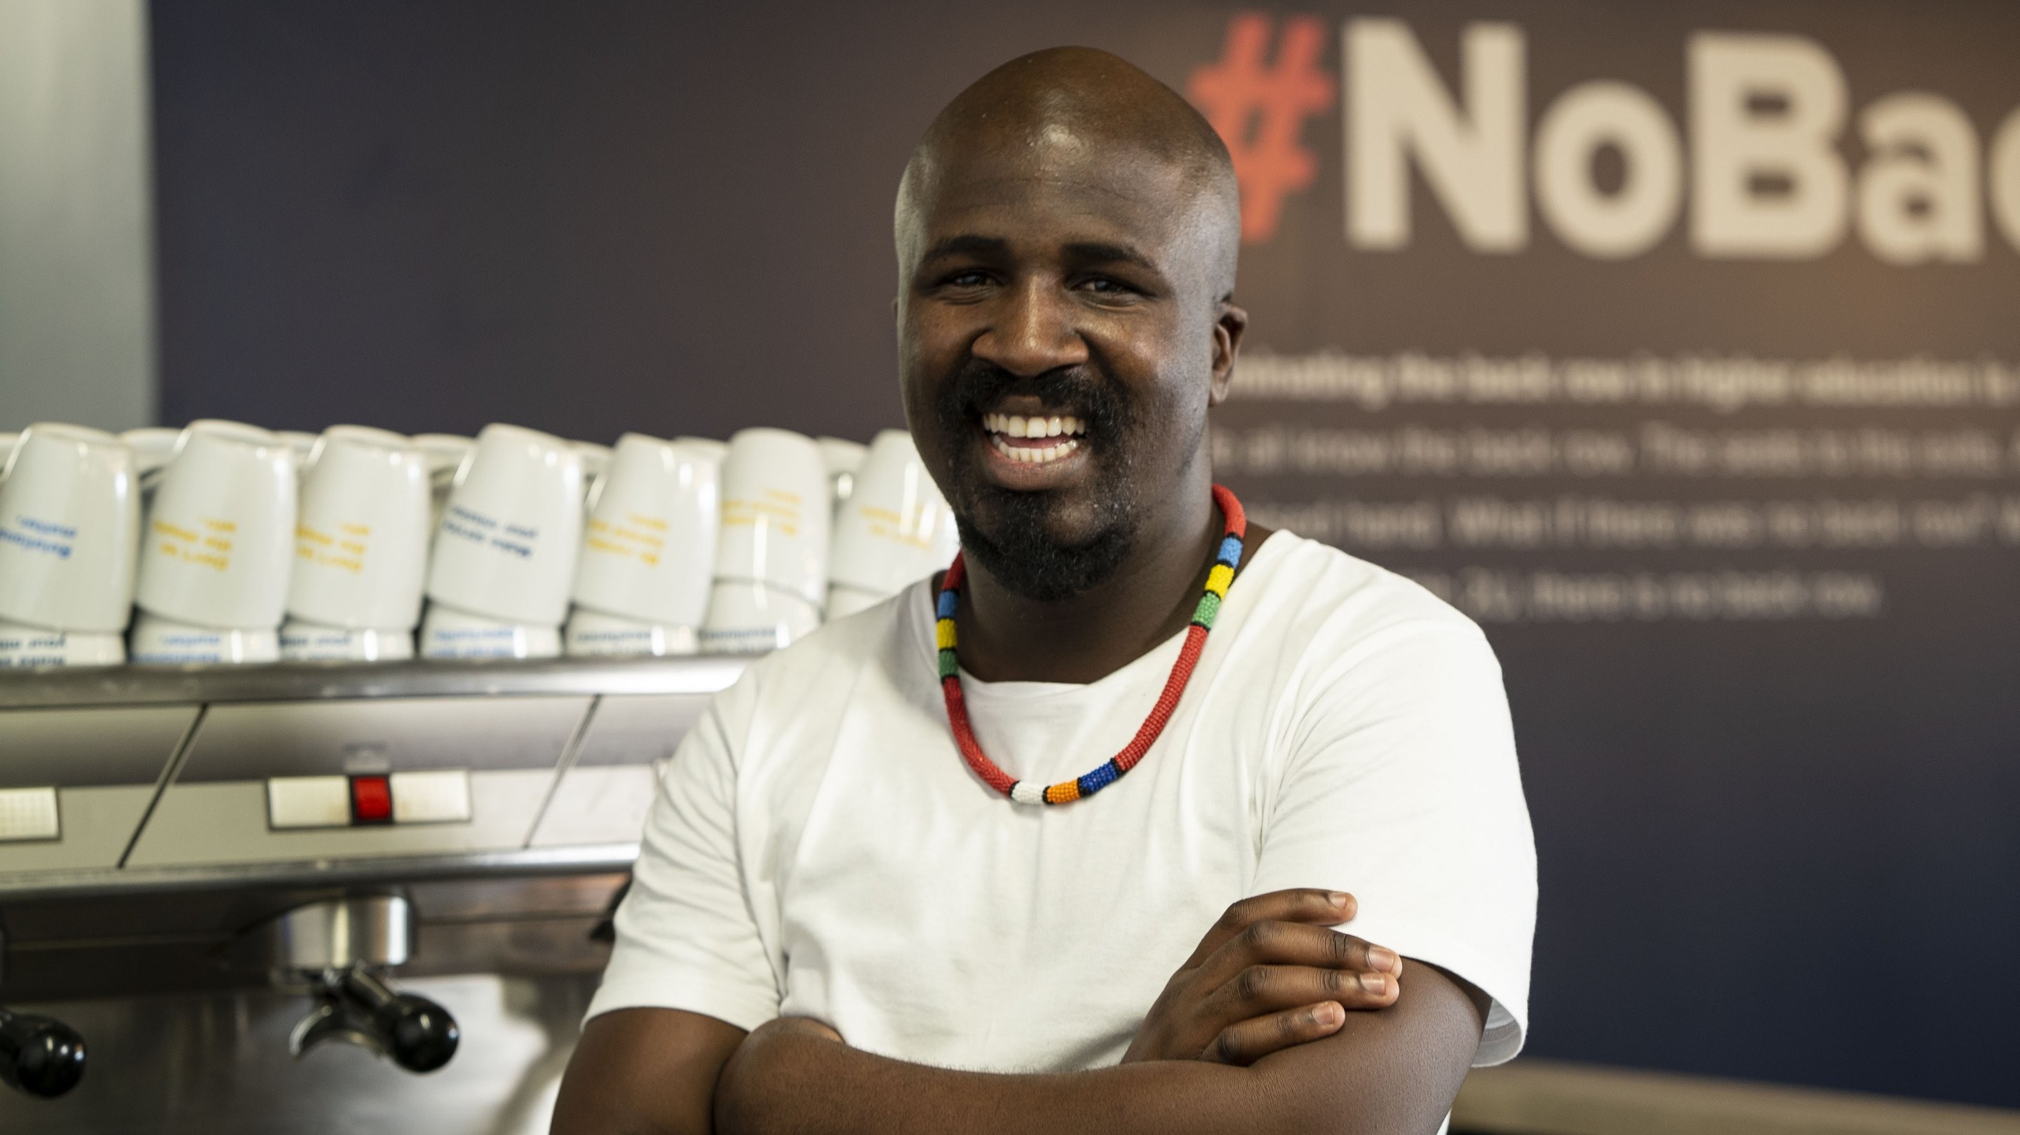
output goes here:
[{"label": "red beaded necklace with multicoloured bands around the man's neck", "polygon": [[1178,652],[1178,662],[1172,664],[1172,677],[1166,679],[1164,693],[1157,695],[1157,705],[1151,707],[1149,717],[1143,719],[1143,727],[1137,729],[1135,739],[1123,751],[1109,757],[1095,771],[1063,780],[1050,788],[1010,780],[1010,773],[996,767],[996,761],[984,755],[982,743],[976,741],[976,731],[968,723],[968,703],[962,699],[962,662],[953,652],[953,612],[962,606],[962,582],[968,578],[968,565],[962,561],[962,553],[953,553],[953,563],[939,584],[939,606],[935,608],[939,618],[933,628],[933,638],[939,646],[939,689],[947,695],[947,723],[953,727],[953,743],[960,745],[962,759],[968,761],[968,767],[984,784],[1016,804],[1071,804],[1115,784],[1143,759],[1143,753],[1164,733],[1164,725],[1172,719],[1172,713],[1178,711],[1178,699],[1186,693],[1186,683],[1192,681],[1192,666],[1200,662],[1200,650],[1206,646],[1206,632],[1214,628],[1214,616],[1220,614],[1220,600],[1228,598],[1228,584],[1234,582],[1234,570],[1242,561],[1242,537],[1248,535],[1248,517],[1242,515],[1242,503],[1222,485],[1214,485],[1214,503],[1220,505],[1220,515],[1226,517],[1228,527],[1220,537],[1220,551],[1214,553],[1214,568],[1206,574],[1206,594],[1200,596],[1200,606],[1192,612],[1192,626],[1186,628],[1186,644]]}]

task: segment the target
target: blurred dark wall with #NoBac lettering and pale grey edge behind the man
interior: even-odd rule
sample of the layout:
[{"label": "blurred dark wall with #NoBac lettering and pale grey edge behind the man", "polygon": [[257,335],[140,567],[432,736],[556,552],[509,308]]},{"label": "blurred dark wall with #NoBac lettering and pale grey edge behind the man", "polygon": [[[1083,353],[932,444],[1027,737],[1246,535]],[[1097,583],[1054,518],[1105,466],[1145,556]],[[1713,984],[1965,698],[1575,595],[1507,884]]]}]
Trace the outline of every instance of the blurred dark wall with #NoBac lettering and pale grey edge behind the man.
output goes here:
[{"label": "blurred dark wall with #NoBac lettering and pale grey edge behind the man", "polygon": [[1236,158],[1222,479],[1501,656],[1517,1066],[2020,1109],[2012,4],[0,0],[0,430],[869,440],[905,156],[1060,42]]}]

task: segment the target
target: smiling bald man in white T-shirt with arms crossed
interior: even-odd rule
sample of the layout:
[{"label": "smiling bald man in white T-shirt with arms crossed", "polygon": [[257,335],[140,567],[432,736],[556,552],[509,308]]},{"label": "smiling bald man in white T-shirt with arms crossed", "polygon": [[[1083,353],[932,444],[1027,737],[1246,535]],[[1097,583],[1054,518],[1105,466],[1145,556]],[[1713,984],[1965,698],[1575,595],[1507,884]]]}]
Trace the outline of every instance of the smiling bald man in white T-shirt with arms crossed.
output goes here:
[{"label": "smiling bald man in white T-shirt with arms crossed", "polygon": [[1046,50],[941,111],[895,228],[966,576],[681,745],[556,1131],[1436,1131],[1523,1034],[1507,705],[1462,616],[1216,495],[1226,147]]}]

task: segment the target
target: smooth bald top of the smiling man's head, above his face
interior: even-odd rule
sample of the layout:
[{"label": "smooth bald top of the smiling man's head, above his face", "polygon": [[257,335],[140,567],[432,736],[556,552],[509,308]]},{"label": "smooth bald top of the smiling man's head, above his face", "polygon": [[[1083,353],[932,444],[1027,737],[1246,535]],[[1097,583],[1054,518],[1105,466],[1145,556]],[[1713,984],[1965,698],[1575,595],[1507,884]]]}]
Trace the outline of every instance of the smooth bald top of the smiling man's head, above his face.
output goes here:
[{"label": "smooth bald top of the smiling man's head, above his face", "polygon": [[907,238],[917,236],[919,212],[949,182],[978,174],[1109,174],[1164,188],[1188,214],[1200,256],[1194,267],[1214,299],[1234,291],[1240,194],[1228,147],[1178,91],[1117,55],[1087,46],[1036,50],[955,95],[913,147],[899,182],[899,271],[911,261]]}]

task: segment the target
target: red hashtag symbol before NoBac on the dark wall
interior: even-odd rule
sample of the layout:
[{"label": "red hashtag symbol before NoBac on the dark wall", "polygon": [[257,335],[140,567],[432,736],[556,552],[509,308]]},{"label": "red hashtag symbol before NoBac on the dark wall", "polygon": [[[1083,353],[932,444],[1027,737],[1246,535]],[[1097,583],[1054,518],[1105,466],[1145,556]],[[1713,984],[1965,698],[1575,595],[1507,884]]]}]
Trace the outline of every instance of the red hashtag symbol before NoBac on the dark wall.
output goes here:
[{"label": "red hashtag symbol before NoBac on the dark wall", "polygon": [[1228,24],[1220,61],[1200,67],[1186,97],[1206,113],[1234,158],[1242,190],[1242,240],[1269,240],[1283,198],[1311,184],[1319,160],[1305,147],[1305,119],[1333,105],[1333,77],[1319,67],[1325,22],[1285,20],[1277,63],[1265,65],[1271,18],[1242,12]]}]

